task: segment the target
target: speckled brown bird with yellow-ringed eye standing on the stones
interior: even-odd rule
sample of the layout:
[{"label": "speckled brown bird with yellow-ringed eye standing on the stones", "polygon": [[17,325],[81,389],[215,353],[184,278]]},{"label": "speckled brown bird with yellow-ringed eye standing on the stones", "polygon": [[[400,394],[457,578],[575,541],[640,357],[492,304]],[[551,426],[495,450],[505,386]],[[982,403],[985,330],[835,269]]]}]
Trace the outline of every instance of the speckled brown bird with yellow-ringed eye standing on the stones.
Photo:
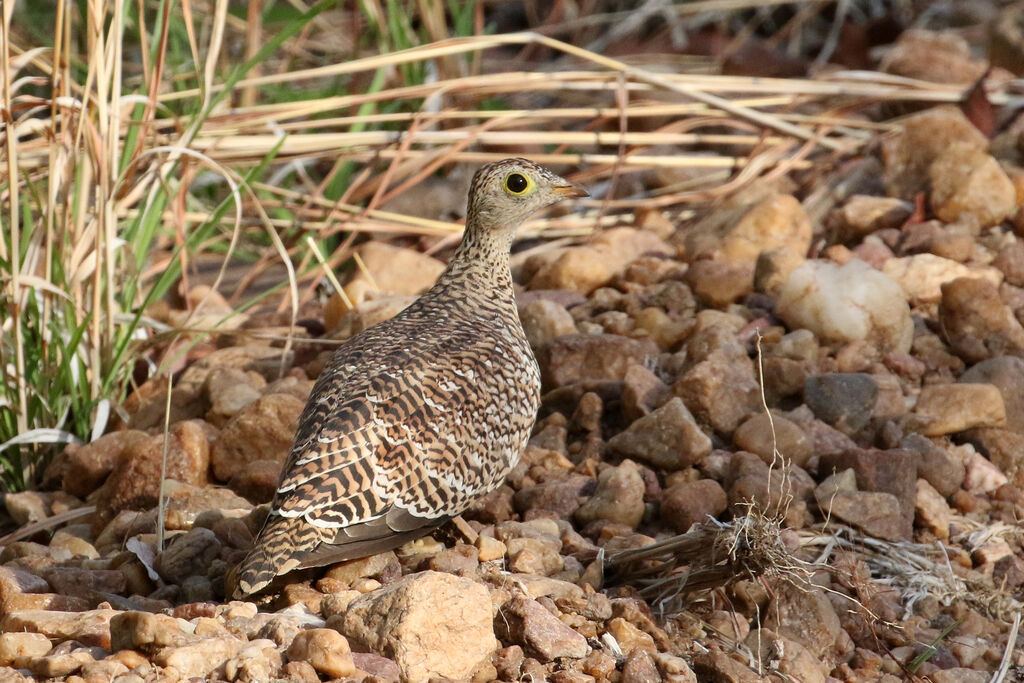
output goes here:
[{"label": "speckled brown bird with yellow-ringed eye standing on the stones", "polygon": [[397,548],[502,484],[541,402],[512,243],[531,214],[588,196],[525,159],[475,173],[462,242],[437,282],[349,338],[314,383],[228,593],[241,599],[295,569]]}]

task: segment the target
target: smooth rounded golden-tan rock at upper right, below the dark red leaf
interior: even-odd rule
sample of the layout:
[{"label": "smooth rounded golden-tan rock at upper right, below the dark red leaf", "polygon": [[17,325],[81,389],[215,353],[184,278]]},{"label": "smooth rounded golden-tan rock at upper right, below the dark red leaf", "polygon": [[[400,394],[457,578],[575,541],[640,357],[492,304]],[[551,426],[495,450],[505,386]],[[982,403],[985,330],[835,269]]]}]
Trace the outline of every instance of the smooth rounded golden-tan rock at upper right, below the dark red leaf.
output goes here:
[{"label": "smooth rounded golden-tan rock at upper right, below the dark red leaf", "polygon": [[1014,183],[999,163],[973,145],[954,144],[932,162],[932,211],[947,223],[988,227],[1017,209]]}]

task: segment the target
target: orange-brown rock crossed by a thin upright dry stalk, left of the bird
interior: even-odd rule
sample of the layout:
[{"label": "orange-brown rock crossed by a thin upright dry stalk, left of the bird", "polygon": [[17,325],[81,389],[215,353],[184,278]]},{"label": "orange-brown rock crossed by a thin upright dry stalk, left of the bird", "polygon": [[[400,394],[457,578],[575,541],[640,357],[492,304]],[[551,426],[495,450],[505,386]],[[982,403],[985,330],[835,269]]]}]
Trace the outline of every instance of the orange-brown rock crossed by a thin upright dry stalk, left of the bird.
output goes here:
[{"label": "orange-brown rock crossed by a thin upright dry stalk, left of the bird", "polygon": [[[206,483],[210,465],[208,429],[198,420],[171,426],[167,444],[168,479]],[[117,467],[99,488],[94,531],[102,529],[121,510],[145,510],[157,505],[163,453],[162,435],[134,440],[125,447]]]}]

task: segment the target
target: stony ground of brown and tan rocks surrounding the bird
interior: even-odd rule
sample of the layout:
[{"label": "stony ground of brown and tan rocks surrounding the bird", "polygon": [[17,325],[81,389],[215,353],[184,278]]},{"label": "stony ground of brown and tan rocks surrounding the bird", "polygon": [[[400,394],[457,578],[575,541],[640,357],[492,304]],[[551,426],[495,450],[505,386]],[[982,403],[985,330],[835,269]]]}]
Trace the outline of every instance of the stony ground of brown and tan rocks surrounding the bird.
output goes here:
[{"label": "stony ground of brown and tan rocks surrounding the bird", "polygon": [[[985,71],[948,36],[900,41],[892,73]],[[935,41],[953,48],[931,58]],[[169,397],[165,379],[142,385],[42,492],[4,497],[0,679],[1015,680],[1021,130],[990,138],[957,106],[922,109],[813,178],[518,252],[545,399],[506,485],[461,528],[225,601],[319,342],[443,267],[367,243],[375,282],[347,285],[353,310],[313,306],[294,330],[237,318],[181,354]],[[211,321],[226,309],[189,298]],[[674,568],[673,553],[616,564],[691,529]],[[688,586],[687,565],[718,574]]]}]

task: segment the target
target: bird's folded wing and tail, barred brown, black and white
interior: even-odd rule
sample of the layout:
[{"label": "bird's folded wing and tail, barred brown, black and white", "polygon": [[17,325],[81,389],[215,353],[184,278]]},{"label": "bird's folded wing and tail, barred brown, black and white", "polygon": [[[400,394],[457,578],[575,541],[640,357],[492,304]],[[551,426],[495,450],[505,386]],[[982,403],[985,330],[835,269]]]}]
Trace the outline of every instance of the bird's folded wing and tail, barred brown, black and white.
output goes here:
[{"label": "bird's folded wing and tail, barred brown, black and white", "polygon": [[[506,474],[484,466],[478,429],[494,393],[494,378],[483,376],[493,336],[445,328],[427,348],[420,340],[416,358],[380,344],[370,360],[375,342],[351,341],[321,375],[300,419],[270,517],[252,562],[240,567],[248,586],[396,547],[462,512]],[[287,543],[283,536],[275,549],[259,550],[285,528]]]}]

